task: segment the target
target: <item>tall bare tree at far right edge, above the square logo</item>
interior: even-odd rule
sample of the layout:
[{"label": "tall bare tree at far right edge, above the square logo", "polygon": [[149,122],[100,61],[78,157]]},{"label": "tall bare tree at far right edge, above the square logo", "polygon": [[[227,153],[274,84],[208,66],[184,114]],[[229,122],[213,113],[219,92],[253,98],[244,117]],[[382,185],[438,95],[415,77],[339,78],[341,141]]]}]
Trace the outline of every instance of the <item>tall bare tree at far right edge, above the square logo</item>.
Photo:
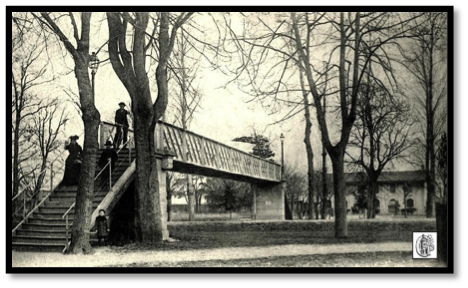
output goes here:
[{"label": "tall bare tree at far right edge, above the square logo", "polygon": [[[447,101],[447,13],[418,13],[421,18],[414,31],[414,40],[400,49],[409,71],[420,88],[417,103],[425,151],[424,170],[427,183],[426,216],[434,216],[437,138],[444,131]],[[413,83],[413,82],[412,82]],[[445,113],[444,113],[445,112]],[[446,122],[445,122],[446,123]]]}]

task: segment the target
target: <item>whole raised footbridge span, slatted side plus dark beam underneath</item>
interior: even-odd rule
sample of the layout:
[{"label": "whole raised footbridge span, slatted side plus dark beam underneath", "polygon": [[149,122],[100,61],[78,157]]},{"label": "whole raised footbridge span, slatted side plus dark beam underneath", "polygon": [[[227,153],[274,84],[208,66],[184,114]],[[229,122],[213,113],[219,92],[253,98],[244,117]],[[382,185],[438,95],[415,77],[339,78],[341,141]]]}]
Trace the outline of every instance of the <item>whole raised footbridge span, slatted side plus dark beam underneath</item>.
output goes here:
[{"label": "whole raised footbridge span, slatted side plus dark beam underneath", "polygon": [[[129,130],[129,136],[133,137]],[[101,142],[112,135],[112,124],[101,125]],[[191,131],[159,121],[156,149],[175,154],[172,171],[249,182],[281,182],[281,165],[229,147]]]}]

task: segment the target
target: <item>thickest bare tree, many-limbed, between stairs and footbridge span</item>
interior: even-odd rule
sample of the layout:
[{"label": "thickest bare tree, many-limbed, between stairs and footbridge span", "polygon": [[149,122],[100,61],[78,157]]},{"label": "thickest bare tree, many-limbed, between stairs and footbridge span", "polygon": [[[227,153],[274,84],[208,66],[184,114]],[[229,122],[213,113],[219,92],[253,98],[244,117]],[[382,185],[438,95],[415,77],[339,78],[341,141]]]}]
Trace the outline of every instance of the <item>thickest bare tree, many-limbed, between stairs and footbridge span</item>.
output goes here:
[{"label": "thickest bare tree, many-limbed, between stairs and footbridge span", "polygon": [[[109,27],[109,57],[112,68],[127,89],[132,100],[135,128],[136,158],[136,238],[144,243],[163,240],[164,222],[161,219],[159,179],[156,167],[154,130],[168,104],[167,67],[176,41],[177,30],[193,13],[181,13],[175,19],[167,12],[152,18],[149,13],[107,13]],[[170,25],[172,21],[172,30]],[[130,24],[130,25],[129,25]],[[127,30],[133,33],[133,47],[127,48]],[[158,32],[158,37],[154,37]],[[149,37],[149,41],[147,41]],[[150,81],[146,71],[146,52],[157,52],[155,80],[158,88],[156,101],[151,98]]]}]

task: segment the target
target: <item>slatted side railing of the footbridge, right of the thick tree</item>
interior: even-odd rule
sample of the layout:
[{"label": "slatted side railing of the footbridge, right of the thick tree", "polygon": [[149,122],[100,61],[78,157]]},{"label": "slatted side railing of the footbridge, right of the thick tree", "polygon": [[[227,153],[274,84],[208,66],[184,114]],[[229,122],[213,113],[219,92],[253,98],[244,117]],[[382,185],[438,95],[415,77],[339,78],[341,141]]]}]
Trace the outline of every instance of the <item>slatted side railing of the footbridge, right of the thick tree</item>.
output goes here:
[{"label": "slatted side railing of the footbridge, right of the thick tree", "polygon": [[[168,148],[176,161],[190,163],[228,173],[279,182],[281,165],[223,143],[159,121],[156,127],[158,149]],[[159,140],[159,141],[158,141]]]}]

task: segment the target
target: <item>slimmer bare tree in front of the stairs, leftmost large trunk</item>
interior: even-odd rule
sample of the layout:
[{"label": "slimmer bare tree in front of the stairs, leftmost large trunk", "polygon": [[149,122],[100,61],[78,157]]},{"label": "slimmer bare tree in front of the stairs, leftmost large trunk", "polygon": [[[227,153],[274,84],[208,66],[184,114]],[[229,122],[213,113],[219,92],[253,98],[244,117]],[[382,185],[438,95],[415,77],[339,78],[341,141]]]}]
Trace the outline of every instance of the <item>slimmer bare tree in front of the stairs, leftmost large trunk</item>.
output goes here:
[{"label": "slimmer bare tree in front of the stairs, leftmost large trunk", "polygon": [[[84,123],[84,147],[81,165],[80,181],[76,194],[75,217],[72,226],[72,242],[69,250],[71,253],[90,253],[89,244],[89,217],[92,213],[94,196],[94,176],[96,167],[96,152],[98,149],[98,128],[100,114],[96,109],[94,94],[89,77],[88,64],[90,59],[90,12],[79,13],[79,17],[72,12],[49,13],[41,12],[40,15],[32,13],[42,27],[51,31],[63,44],[66,51],[72,56],[74,72],[77,79],[81,118]],[[65,30],[66,26],[62,18],[67,18],[71,24],[71,31]],[[81,22],[81,27],[78,24]],[[60,27],[60,26],[62,27]],[[70,32],[73,38],[66,35]]]}]

